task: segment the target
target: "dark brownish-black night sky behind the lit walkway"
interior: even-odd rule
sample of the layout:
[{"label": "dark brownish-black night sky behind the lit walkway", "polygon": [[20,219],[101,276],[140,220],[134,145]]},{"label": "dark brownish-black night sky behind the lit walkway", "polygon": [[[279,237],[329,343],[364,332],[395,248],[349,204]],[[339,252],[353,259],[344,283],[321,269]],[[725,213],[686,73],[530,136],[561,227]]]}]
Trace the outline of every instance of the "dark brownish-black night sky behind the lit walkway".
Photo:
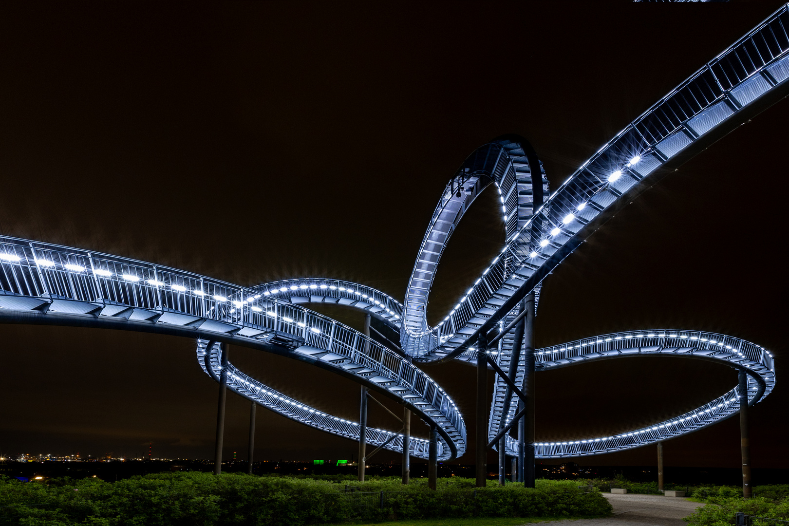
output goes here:
[{"label": "dark brownish-black night sky behind the lit walkway", "polygon": [[[476,147],[522,134],[550,181],[563,181],[780,6],[544,3],[6,3],[0,232],[239,285],[326,276],[402,299],[440,192]],[[762,468],[789,468],[787,121],[784,100],[634,200],[548,276],[536,322],[540,346],[652,327],[764,345],[779,383],[751,413]],[[491,198],[447,249],[432,320],[503,242]],[[155,456],[212,456],[217,386],[200,371],[194,341],[0,330],[0,453],[131,457],[153,442]],[[231,353],[261,381],[357,418],[357,384],[278,356]],[[469,419],[473,368],[427,372]],[[735,379],[724,366],[670,358],[540,373],[538,439],[664,420]],[[243,457],[248,403],[230,396],[228,408],[226,454]],[[372,425],[394,429],[380,408],[371,412]],[[472,463],[466,423],[460,461]],[[356,447],[259,411],[261,460],[344,458]],[[736,467],[738,420],[665,450],[667,465]],[[654,457],[646,447],[579,462]]]}]

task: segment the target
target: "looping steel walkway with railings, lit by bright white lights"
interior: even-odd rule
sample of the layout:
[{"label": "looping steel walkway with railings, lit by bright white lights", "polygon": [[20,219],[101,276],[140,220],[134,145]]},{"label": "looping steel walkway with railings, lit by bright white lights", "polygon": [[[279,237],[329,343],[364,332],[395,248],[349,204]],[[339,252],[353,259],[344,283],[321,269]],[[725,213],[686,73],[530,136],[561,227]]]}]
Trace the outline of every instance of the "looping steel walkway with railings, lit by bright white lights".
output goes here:
[{"label": "looping steel walkway with railings, lit by bright white lights", "polygon": [[[414,363],[458,359],[475,363],[474,344],[518,313],[522,299],[616,211],[682,162],[789,93],[789,16],[783,6],[688,80],[672,90],[548,194],[533,149],[502,136],[474,151],[455,173],[432,215],[409,278],[405,304],[376,289],[333,279],[296,279],[252,288],[78,248],[0,237],[0,322],[104,327],[196,338],[201,367],[218,378],[220,345],[260,349],[342,375],[436,423],[438,459],[466,451],[466,427],[451,397]],[[499,192],[506,246],[437,326],[427,323],[428,293],[451,233],[488,186]],[[342,304],[399,333],[383,345],[305,308]],[[396,339],[396,337],[394,337]],[[378,338],[382,339],[382,338]],[[503,371],[514,338],[506,334],[491,356]],[[775,386],[772,355],[748,341],[694,330],[608,334],[537,350],[537,370],[627,356],[675,356],[730,365],[748,375],[750,404]],[[357,440],[358,423],[302,404],[232,364],[228,386],[291,420]],[[506,384],[497,375],[488,436],[504,413]],[[708,426],[738,411],[739,388],[692,412],[610,437],[538,443],[537,457],[626,450]],[[368,429],[367,442],[402,450],[402,437]],[[507,437],[507,453],[516,454]],[[428,442],[412,438],[413,456]]]}]

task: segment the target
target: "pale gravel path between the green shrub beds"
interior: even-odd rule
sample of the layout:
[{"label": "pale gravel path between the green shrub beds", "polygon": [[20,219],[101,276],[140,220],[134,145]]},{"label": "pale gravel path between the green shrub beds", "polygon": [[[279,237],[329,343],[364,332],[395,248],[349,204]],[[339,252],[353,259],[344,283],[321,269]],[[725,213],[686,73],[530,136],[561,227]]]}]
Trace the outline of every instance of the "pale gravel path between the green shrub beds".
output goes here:
[{"label": "pale gravel path between the green shrub beds", "polygon": [[684,498],[663,495],[603,494],[614,506],[614,516],[605,519],[556,520],[551,526],[683,526],[682,517],[703,506]]}]

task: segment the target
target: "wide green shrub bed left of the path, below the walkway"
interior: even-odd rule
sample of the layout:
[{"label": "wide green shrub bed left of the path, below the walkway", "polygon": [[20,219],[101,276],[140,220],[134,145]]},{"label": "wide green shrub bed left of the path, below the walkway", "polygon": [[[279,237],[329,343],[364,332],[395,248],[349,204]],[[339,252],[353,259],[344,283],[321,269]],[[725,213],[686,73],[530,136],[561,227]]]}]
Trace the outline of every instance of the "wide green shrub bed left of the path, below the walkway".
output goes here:
[{"label": "wide green shrub bed left of the path, below the walkway", "polygon": [[[347,486],[347,487],[346,487]],[[472,479],[425,479],[402,486],[399,477],[365,483],[287,476],[213,476],[159,473],[114,483],[100,479],[50,479],[21,483],[0,479],[0,524],[25,526],[298,525],[383,520],[439,519],[442,524],[479,524],[473,517],[604,517],[611,505],[578,482],[538,480],[474,488]],[[346,490],[348,490],[346,492]],[[451,522],[449,519],[471,519]],[[501,522],[501,526],[524,523]],[[398,522],[400,526],[409,524]],[[432,520],[431,524],[438,524]],[[486,520],[485,524],[497,524]]]}]

